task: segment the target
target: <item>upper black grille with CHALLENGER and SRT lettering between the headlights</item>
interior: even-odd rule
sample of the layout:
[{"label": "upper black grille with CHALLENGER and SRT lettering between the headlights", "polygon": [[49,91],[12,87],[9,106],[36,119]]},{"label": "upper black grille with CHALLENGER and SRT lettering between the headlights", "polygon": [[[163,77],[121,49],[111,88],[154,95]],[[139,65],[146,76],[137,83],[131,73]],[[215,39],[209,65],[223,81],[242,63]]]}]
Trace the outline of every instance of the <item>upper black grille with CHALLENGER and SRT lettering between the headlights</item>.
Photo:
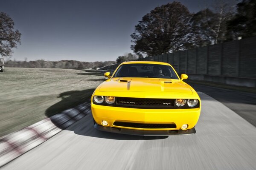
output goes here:
[{"label": "upper black grille with CHALLENGER and SRT lettering between the headlights", "polygon": [[131,108],[173,108],[175,99],[116,97],[116,105]]}]

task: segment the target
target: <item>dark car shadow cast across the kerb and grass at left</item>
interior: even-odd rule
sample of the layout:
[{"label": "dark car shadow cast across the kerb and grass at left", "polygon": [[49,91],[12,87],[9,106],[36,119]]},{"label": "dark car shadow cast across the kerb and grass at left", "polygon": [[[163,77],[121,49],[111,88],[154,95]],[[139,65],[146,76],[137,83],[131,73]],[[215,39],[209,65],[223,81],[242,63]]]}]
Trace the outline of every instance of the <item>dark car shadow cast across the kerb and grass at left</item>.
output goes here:
[{"label": "dark car shadow cast across the kerb and grass at left", "polygon": [[[52,123],[58,128],[70,130],[82,136],[115,140],[155,140],[166,139],[168,137],[134,136],[102,132],[94,129],[93,117],[90,110],[90,96],[93,94],[94,90],[94,88],[91,88],[82,91],[67,91],[59,94],[58,98],[61,98],[61,101],[47,108],[45,115],[49,117]],[[82,105],[81,110],[77,107],[79,105]],[[86,113],[79,114],[84,111],[86,111]]]}]

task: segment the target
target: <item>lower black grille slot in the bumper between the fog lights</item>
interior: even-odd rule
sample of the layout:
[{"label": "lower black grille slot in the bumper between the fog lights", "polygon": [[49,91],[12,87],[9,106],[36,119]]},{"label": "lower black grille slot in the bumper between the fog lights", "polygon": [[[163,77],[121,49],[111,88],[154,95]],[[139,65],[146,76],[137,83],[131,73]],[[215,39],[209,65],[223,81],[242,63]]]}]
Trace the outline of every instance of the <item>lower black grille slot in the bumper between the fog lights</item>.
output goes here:
[{"label": "lower black grille slot in the bumper between the fog lights", "polygon": [[175,124],[149,124],[149,123],[131,123],[131,122],[114,122],[114,126],[134,127],[143,129],[169,129],[176,128]]}]

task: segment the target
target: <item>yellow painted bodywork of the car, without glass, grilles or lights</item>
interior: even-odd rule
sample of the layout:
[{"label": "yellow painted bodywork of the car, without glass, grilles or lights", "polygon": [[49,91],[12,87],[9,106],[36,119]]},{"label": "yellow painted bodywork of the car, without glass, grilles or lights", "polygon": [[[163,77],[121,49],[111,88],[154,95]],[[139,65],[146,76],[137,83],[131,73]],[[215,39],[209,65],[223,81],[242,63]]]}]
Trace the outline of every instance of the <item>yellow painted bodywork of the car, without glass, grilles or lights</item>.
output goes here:
[{"label": "yellow painted bodywork of the car, without glass, grilles or lights", "polygon": [[[165,62],[134,61],[123,62],[122,64],[132,63],[149,63],[169,65]],[[121,65],[122,65],[121,64]],[[171,65],[169,65],[171,66]],[[120,67],[120,65],[119,65]],[[118,67],[118,68],[119,68]],[[172,67],[172,66],[171,66]],[[117,69],[118,69],[117,68]],[[116,69],[116,70],[117,70]],[[115,71],[116,72],[116,71]],[[115,74],[115,72],[113,74]],[[175,72],[176,73],[176,72]],[[177,74],[177,73],[176,73]],[[183,77],[183,79],[185,79]],[[127,80],[128,82],[120,82]],[[171,81],[172,83],[164,83]],[[159,78],[110,78],[99,85],[92,95],[93,96],[115,96],[115,97],[137,97],[137,98],[155,98],[155,99],[198,99],[199,108],[188,109],[137,109],[121,108],[113,106],[95,105],[91,100],[91,109],[93,119],[101,125],[102,120],[108,122],[110,127],[114,126],[113,122],[137,122],[137,123],[175,123],[177,128],[172,129],[142,129],[122,127],[138,130],[180,130],[183,124],[188,124],[191,129],[198,122],[201,111],[201,100],[196,91],[183,82],[181,79],[159,79]]]}]

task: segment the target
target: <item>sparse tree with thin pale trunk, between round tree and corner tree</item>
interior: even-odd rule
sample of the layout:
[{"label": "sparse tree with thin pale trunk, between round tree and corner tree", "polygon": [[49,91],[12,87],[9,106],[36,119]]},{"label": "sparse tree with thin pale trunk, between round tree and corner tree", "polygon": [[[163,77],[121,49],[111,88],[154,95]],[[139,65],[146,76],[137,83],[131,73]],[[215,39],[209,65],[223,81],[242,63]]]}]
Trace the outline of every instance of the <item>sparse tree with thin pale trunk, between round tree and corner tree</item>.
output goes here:
[{"label": "sparse tree with thin pale trunk, between round tree and corner tree", "polygon": [[191,23],[195,44],[205,46],[226,40],[227,21],[233,17],[231,4],[218,0],[213,10],[206,8],[194,14]]}]

